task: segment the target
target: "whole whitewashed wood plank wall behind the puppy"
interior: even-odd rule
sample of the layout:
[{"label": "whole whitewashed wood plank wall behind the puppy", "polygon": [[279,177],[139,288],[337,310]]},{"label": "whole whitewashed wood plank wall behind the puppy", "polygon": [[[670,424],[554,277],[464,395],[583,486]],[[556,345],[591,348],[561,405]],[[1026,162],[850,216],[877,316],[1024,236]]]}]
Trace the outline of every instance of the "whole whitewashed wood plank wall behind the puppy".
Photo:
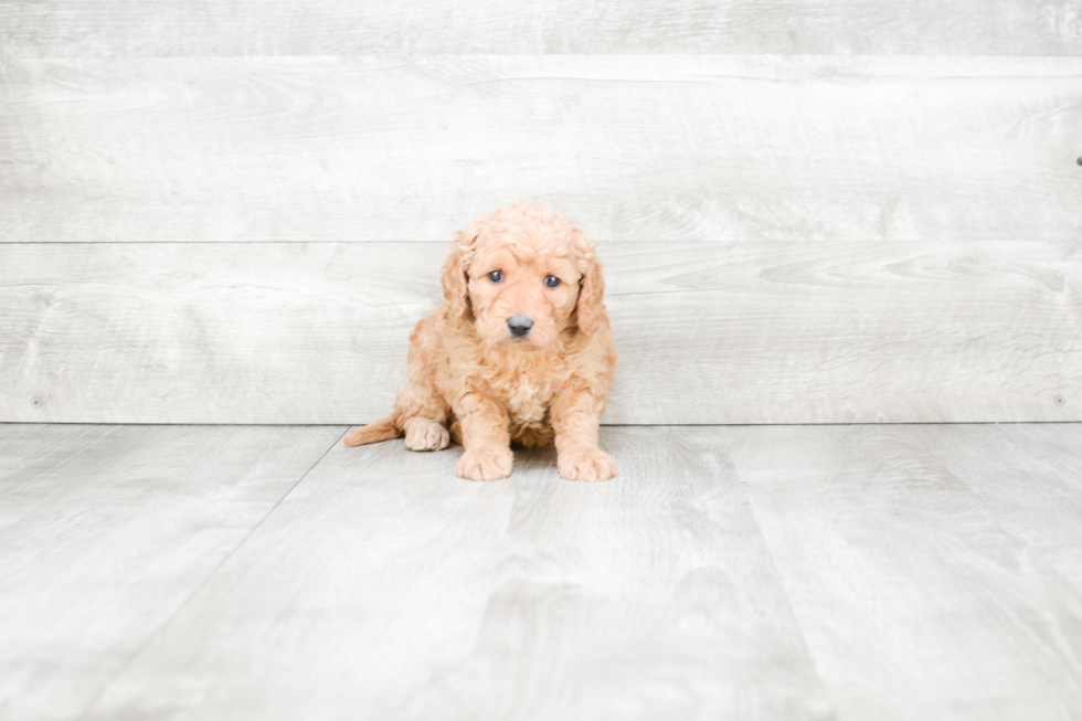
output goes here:
[{"label": "whole whitewashed wood plank wall behind the puppy", "polygon": [[1078,0],[0,1],[0,421],[383,415],[520,199],[608,423],[1080,421],[1080,163]]}]

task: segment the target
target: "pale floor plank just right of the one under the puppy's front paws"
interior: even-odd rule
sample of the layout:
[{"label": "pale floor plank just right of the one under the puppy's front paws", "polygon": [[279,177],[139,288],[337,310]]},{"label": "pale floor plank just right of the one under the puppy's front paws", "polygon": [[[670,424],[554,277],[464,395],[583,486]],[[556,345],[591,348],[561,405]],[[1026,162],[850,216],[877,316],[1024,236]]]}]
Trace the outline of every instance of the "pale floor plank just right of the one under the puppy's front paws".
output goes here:
[{"label": "pale floor plank just right of the one under the puppy's front paws", "polygon": [[839,718],[1078,717],[1082,594],[1005,532],[919,428],[718,439]]}]

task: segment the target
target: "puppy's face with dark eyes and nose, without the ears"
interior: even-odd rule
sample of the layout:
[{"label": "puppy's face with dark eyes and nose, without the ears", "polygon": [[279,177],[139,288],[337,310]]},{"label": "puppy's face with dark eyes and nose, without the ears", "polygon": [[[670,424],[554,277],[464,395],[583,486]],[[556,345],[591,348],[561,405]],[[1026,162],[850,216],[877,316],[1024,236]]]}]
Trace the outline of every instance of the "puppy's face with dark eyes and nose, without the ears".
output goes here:
[{"label": "puppy's face with dark eyes and nose, without the ears", "polygon": [[481,243],[467,275],[474,327],[490,346],[548,348],[571,325],[582,275],[570,248]]}]

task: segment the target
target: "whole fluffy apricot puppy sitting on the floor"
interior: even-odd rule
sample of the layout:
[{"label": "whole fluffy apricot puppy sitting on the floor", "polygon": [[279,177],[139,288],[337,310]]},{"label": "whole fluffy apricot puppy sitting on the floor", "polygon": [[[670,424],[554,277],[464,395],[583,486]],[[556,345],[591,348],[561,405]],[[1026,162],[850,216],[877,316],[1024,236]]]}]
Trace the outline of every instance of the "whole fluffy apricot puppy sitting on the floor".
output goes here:
[{"label": "whole fluffy apricot puppy sitting on the floor", "polygon": [[358,446],[405,435],[411,450],[466,447],[463,478],[511,473],[510,444],[556,445],[560,475],[605,480],[616,464],[597,423],[616,371],[595,245],[548,208],[505,205],[458,233],[444,303],[410,336],[394,413],[346,436]]}]

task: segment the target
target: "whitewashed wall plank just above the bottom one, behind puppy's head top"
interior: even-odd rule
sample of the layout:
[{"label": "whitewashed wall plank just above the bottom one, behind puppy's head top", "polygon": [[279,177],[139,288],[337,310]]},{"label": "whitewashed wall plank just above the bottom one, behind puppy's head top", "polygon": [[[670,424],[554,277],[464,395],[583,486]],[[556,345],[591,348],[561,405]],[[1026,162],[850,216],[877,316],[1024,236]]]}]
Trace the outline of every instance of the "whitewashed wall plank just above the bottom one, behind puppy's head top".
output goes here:
[{"label": "whitewashed wall plank just above the bottom one, behind puppy's head top", "polygon": [[1080,124],[1082,57],[9,60],[0,241],[1068,242]]}]

